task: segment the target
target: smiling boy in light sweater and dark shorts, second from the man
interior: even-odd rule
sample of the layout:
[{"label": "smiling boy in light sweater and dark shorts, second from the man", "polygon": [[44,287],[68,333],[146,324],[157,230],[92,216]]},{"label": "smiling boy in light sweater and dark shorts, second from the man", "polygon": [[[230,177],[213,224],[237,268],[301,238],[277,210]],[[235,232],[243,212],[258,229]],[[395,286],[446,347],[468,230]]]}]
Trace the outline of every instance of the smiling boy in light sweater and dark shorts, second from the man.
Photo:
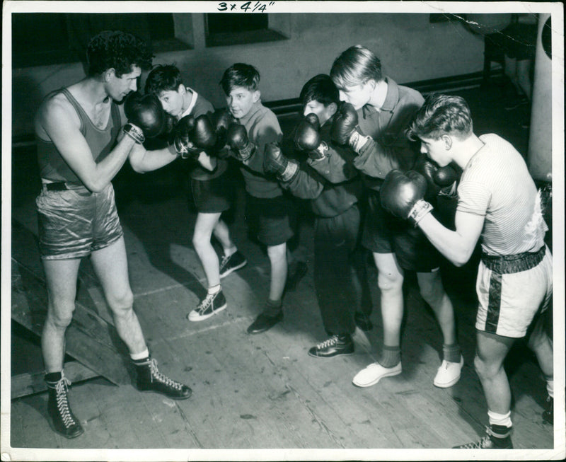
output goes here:
[{"label": "smiling boy in light sweater and dark shorts, second from the man", "polygon": [[236,63],[224,71],[220,86],[236,123],[227,127],[230,154],[241,162],[246,184],[248,218],[258,226],[258,241],[267,246],[270,292],[248,333],[265,332],[283,319],[282,297],[287,280],[287,241],[294,236],[296,219],[291,199],[263,170],[265,146],[279,142],[282,131],[275,114],[261,103],[260,74],[250,64]]}]

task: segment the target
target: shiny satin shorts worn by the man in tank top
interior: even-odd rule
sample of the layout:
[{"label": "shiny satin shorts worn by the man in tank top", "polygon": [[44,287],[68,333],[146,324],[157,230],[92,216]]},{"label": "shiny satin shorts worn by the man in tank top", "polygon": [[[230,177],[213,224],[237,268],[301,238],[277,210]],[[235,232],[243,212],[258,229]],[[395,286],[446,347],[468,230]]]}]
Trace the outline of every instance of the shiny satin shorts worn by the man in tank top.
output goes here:
[{"label": "shiny satin shorts worn by the man in tank top", "polygon": [[39,247],[45,260],[82,258],[123,236],[110,183],[101,192],[84,186],[48,191],[35,199]]}]

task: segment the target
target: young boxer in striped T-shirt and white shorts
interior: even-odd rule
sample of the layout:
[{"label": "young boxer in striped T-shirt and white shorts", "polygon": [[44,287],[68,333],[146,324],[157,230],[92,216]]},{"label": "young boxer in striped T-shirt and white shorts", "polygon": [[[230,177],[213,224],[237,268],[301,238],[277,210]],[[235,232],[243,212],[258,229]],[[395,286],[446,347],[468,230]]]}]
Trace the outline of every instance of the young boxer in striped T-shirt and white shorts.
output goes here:
[{"label": "young boxer in striped T-shirt and white shorts", "polygon": [[474,134],[470,109],[460,96],[429,96],[409,134],[440,167],[455,162],[463,169],[456,229],[445,228],[429,213],[432,205],[423,197],[426,181],[412,171],[388,174],[381,190],[383,207],[418,226],[456,266],[470,259],[481,239],[474,366],[490,426],[480,441],[456,447],[512,449],[511,389],[503,363],[516,339],[526,335],[546,380],[543,417],[553,422],[553,342],[541,316],[553,294],[553,258],[544,243],[548,226],[541,196],[524,158],[509,142],[497,134]]}]

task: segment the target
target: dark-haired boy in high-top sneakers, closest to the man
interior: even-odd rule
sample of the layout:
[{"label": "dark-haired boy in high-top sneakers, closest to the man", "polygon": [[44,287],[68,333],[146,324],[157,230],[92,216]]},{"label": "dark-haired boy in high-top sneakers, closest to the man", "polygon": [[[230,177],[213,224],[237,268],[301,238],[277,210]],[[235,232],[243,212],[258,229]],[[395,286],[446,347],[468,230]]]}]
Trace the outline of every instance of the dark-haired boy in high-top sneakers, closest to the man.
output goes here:
[{"label": "dark-haired boy in high-top sneakers, closest to the man", "polygon": [[[196,119],[200,115],[212,118],[214,115],[212,104],[183,84],[180,71],[175,66],[155,67],[147,77],[145,92],[156,95],[163,109],[175,120],[187,116]],[[176,158],[169,153],[164,156],[172,160]],[[187,318],[191,321],[200,321],[226,308],[226,298],[222,293],[220,279],[246,265],[247,260],[238,251],[231,239],[228,226],[221,219],[222,212],[226,212],[231,207],[233,197],[228,162],[209,156],[206,151],[196,146],[191,149],[190,158],[194,163],[190,173],[190,185],[198,212],[192,244],[207,277],[208,290],[207,296],[188,314]],[[221,260],[212,246],[213,233],[224,250]]]}]

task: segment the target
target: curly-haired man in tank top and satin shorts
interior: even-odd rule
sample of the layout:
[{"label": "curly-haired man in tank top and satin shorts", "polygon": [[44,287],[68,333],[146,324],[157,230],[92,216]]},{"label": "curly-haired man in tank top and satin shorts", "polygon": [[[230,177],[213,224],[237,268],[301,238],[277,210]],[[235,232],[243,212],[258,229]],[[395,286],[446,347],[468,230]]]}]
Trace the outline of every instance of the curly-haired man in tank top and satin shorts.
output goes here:
[{"label": "curly-haired man in tank top and satin shorts", "polygon": [[[88,44],[88,75],[54,91],[35,118],[42,191],[37,197],[40,255],[47,280],[47,318],[42,333],[48,412],[64,437],[83,433],[69,408],[63,373],[65,331],[75,308],[81,258],[90,256],[112,311],[115,327],[129,350],[140,391],[189,398],[189,387],[161,374],[149,355],[132,309],[127,257],[111,180],[129,152],[163,124],[157,101],[137,101],[125,111],[117,102],[137,89],[151,53],[133,35],[104,31]],[[127,111],[128,112],[128,111]]]}]

